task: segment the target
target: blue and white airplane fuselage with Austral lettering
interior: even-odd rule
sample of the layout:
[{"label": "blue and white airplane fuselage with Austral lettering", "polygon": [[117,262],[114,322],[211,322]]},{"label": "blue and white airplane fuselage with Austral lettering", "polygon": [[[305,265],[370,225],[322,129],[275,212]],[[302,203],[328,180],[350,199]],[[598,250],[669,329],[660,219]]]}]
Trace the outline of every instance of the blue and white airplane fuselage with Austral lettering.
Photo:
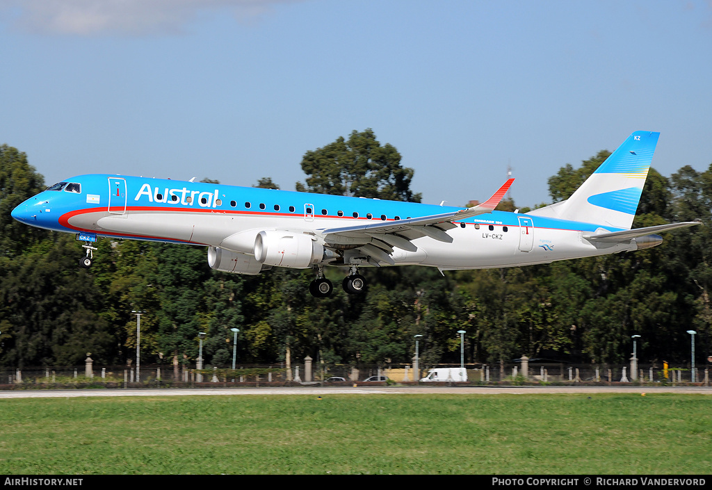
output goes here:
[{"label": "blue and white airplane fuselage with Austral lettering", "polygon": [[[54,231],[121,239],[222,247],[252,254],[259,231],[277,229],[320,236],[320,230],[377,221],[400,221],[456,211],[456,207],[359,197],[236,187],[171,179],[91,174],[68,179],[13,212],[20,221]],[[494,211],[452,221],[451,243],[420,236],[415,250],[393,247],[396,265],[441,270],[542,264],[562,259],[636,250],[635,240],[593,244],[582,238],[596,231],[619,231],[600,224]],[[240,237],[244,234],[244,237]],[[232,241],[229,237],[237,236]],[[350,249],[348,239],[332,243]],[[348,265],[332,256],[324,264]],[[352,261],[351,261],[352,263]],[[368,264],[362,264],[367,266]]]}]

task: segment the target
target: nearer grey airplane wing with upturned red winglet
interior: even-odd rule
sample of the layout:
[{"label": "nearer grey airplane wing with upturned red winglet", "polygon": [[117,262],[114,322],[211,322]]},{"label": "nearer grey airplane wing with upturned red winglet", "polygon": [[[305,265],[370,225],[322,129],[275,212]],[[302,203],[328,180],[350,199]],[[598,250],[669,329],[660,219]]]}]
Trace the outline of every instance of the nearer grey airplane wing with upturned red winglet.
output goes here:
[{"label": "nearer grey airplane wing with upturned red winglet", "polygon": [[407,251],[417,251],[417,247],[410,241],[422,236],[429,236],[432,239],[451,243],[452,237],[446,234],[445,231],[456,226],[452,222],[493,212],[512,185],[512,182],[514,182],[514,179],[508,179],[486,202],[468,209],[417,218],[399,219],[398,221],[381,221],[379,223],[357,224],[355,226],[319,229],[317,231],[324,236],[328,244],[357,245],[356,248],[360,249],[369,258],[369,263],[372,265],[377,266],[378,262],[393,265],[394,261],[391,259],[390,254],[393,253],[394,246]]}]

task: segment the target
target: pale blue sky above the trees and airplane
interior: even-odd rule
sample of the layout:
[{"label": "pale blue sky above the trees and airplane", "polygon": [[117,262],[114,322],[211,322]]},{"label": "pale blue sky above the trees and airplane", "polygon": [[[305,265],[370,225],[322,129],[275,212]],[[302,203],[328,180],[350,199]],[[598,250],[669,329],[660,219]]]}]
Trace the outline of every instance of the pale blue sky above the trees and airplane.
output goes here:
[{"label": "pale blue sky above the trees and airplane", "polygon": [[371,127],[463,205],[661,132],[712,163],[712,1],[0,0],[0,143],[47,184],[120,173],[283,189]]}]

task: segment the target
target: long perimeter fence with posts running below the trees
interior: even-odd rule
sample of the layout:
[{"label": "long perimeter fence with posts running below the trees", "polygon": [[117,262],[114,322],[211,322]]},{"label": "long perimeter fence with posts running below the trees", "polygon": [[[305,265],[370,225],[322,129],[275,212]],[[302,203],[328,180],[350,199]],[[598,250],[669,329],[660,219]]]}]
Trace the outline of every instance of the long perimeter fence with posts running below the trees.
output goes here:
[{"label": "long perimeter fence with posts running below the trees", "polygon": [[[313,365],[310,360],[291,365],[245,365],[235,370],[207,367],[147,365],[137,372],[127,366],[0,368],[0,389],[18,387],[189,387],[196,385],[352,384],[365,382],[416,383],[431,368],[459,365]],[[709,366],[690,368],[659,365],[571,365],[567,363],[466,364],[469,385],[577,385],[694,383],[709,386]],[[369,379],[370,378],[370,379]],[[424,382],[422,382],[424,383]]]}]

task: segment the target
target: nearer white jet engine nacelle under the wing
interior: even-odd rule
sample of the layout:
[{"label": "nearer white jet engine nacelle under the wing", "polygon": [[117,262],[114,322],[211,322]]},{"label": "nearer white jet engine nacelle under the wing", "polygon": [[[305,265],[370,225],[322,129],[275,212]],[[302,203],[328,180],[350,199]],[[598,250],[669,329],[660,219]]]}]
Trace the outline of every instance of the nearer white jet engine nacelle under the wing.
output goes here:
[{"label": "nearer white jet engine nacelle under the wing", "polygon": [[323,259],[324,246],[303,233],[267,230],[256,236],[254,252],[261,264],[308,269]]}]

